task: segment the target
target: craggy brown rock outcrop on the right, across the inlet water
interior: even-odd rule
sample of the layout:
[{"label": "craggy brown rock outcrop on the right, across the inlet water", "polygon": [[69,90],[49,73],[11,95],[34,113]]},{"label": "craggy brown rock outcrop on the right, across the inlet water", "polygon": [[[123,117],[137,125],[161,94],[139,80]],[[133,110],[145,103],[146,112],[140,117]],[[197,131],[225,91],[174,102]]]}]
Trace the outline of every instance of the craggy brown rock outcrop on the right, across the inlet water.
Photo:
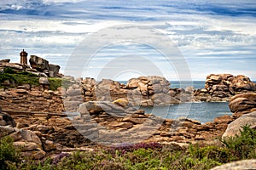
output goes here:
[{"label": "craggy brown rock outcrop on the right, across the inlet water", "polygon": [[205,88],[194,93],[195,100],[201,101],[227,101],[236,94],[256,91],[256,83],[249,77],[231,74],[211,74],[207,76]]}]

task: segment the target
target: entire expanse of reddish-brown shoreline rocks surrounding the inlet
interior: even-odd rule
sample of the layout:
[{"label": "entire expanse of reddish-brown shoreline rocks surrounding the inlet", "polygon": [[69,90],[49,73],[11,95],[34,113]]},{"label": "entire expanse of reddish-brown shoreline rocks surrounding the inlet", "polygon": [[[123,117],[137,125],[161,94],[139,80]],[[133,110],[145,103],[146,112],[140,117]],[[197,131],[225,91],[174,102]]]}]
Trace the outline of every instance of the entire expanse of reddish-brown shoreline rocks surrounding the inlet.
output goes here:
[{"label": "entire expanse of reddish-brown shoreline rocks surrounding the inlet", "polygon": [[[34,68],[39,65],[36,61]],[[9,61],[1,62],[3,70],[9,67],[3,64]],[[256,84],[241,75],[212,74],[207,77],[205,88],[196,90],[170,88],[170,82],[164,77],[138,77],[122,84],[109,79],[96,82],[89,77],[61,76],[67,83],[53,91],[49,90],[48,77],[58,74],[35,70],[37,75],[40,71],[46,75],[38,77],[38,86],[16,85],[6,80],[1,82],[4,88],[0,88],[0,137],[12,137],[23,155],[32,159],[65,151],[90,150],[98,144],[214,144],[223,134],[239,133],[244,123],[250,123],[253,128],[256,124]],[[201,124],[186,117],[163,119],[135,107],[195,101],[229,101],[234,114]],[[79,116],[63,114],[73,112]]]}]

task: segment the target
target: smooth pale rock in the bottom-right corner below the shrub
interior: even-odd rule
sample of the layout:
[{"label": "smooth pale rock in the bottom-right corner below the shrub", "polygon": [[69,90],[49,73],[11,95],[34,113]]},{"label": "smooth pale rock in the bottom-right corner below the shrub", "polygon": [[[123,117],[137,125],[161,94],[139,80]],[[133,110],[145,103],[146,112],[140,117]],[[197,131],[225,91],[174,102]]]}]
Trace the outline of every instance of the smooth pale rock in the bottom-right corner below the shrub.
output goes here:
[{"label": "smooth pale rock in the bottom-right corner below the shrub", "polygon": [[238,170],[238,169],[255,169],[256,159],[233,161],[224,165],[213,167],[211,170]]}]

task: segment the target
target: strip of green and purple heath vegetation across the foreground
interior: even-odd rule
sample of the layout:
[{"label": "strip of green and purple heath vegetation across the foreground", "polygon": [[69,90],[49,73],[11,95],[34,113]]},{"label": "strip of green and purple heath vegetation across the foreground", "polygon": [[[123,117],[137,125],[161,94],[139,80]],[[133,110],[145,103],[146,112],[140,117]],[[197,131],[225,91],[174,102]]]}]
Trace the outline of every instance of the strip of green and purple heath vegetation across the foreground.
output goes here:
[{"label": "strip of green and purple heath vegetation across the foreground", "polygon": [[222,140],[223,147],[191,144],[183,149],[175,144],[122,144],[22,162],[10,141],[1,140],[0,163],[3,169],[210,169],[230,161],[256,158],[255,133],[255,129],[242,127],[241,135]]}]

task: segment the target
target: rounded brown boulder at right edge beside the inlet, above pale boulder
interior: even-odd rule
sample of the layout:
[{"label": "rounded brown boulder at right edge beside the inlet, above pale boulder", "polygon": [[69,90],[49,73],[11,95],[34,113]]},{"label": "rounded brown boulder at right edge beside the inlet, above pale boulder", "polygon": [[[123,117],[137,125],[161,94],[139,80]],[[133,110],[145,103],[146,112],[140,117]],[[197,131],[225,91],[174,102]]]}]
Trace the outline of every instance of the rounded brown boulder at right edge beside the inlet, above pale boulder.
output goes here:
[{"label": "rounded brown boulder at right edge beside the inlet, above pale boulder", "polygon": [[230,111],[256,111],[256,93],[237,94],[230,99]]}]

